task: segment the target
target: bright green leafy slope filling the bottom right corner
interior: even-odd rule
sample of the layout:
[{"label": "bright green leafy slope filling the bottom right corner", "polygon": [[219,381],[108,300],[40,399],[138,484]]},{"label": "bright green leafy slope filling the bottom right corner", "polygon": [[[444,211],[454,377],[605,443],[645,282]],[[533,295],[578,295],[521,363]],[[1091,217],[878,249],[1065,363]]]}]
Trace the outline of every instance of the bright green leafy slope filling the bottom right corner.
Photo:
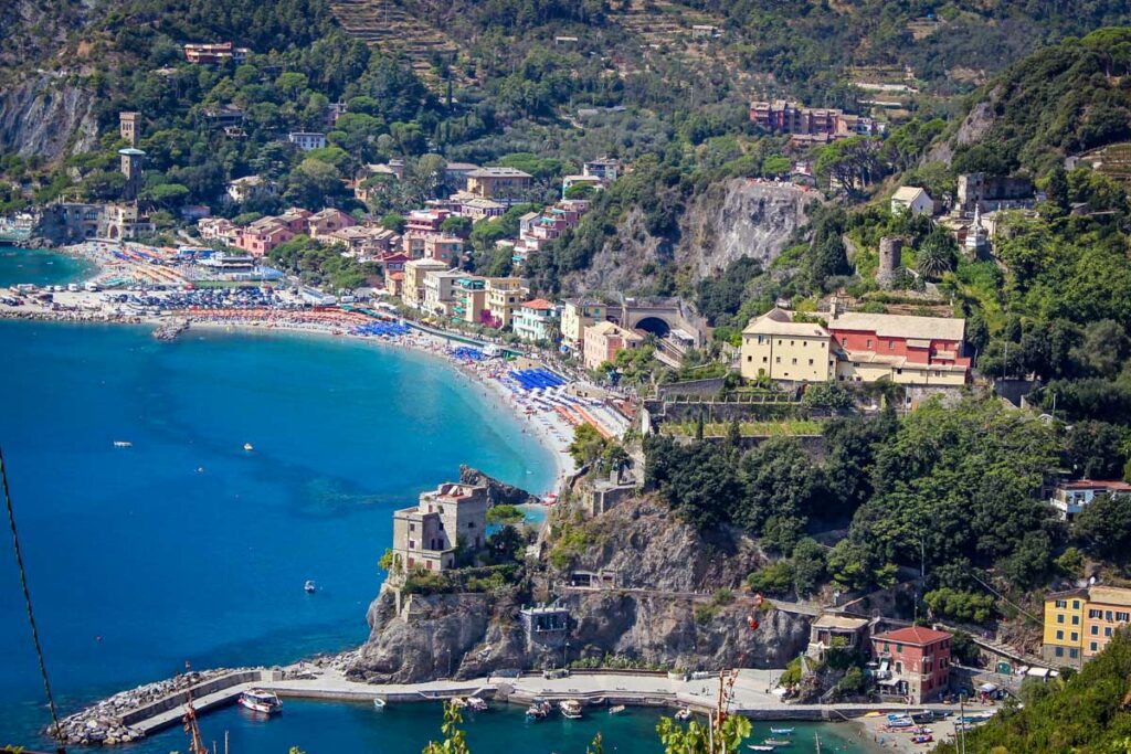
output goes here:
[{"label": "bright green leafy slope filling the bottom right corner", "polygon": [[[1116,754],[1131,751],[1131,638],[1121,632],[1067,684],[1022,688],[1025,709],[1003,710],[966,734],[968,752]],[[1028,693],[1026,693],[1028,692]],[[953,744],[935,749],[957,754]]]}]

